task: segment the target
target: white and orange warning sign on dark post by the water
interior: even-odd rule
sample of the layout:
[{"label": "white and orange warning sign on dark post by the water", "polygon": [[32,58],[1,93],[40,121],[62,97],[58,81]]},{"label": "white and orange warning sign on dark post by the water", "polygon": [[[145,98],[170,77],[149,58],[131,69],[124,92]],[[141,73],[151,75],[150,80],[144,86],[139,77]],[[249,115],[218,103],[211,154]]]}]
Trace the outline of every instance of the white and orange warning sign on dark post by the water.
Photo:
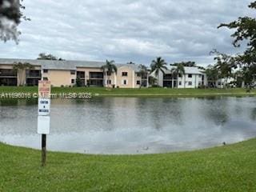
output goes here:
[{"label": "white and orange warning sign on dark post by the water", "polygon": [[50,134],[50,81],[38,81],[38,134],[42,134],[42,166],[46,166],[46,134]]}]

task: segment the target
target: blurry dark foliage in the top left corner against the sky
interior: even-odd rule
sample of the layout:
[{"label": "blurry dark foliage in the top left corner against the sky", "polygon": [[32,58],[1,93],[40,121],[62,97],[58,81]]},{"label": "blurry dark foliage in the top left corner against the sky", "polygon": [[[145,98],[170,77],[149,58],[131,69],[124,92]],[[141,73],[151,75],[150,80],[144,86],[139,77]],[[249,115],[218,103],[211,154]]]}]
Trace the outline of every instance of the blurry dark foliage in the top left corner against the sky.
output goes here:
[{"label": "blurry dark foliage in the top left corner against the sky", "polygon": [[[22,0],[21,0],[22,2]],[[0,40],[6,42],[13,39],[18,43],[18,25],[24,20],[30,20],[22,13],[25,6],[18,0],[0,0]]]}]

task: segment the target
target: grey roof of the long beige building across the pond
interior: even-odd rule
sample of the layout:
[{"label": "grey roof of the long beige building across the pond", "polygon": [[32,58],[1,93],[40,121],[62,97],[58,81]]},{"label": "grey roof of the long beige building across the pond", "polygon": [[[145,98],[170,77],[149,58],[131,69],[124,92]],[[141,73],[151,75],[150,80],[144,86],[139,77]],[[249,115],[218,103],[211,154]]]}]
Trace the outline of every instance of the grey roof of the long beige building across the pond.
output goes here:
[{"label": "grey roof of the long beige building across the pond", "polygon": [[[12,65],[14,62],[29,62],[33,66],[42,66],[42,69],[47,70],[77,70],[77,67],[100,68],[106,62],[90,62],[90,61],[59,61],[59,60],[42,60],[42,59],[19,59],[19,58],[0,58],[0,64]],[[119,68],[121,66],[129,66],[136,72],[139,67],[136,64],[121,64],[115,63]]]}]

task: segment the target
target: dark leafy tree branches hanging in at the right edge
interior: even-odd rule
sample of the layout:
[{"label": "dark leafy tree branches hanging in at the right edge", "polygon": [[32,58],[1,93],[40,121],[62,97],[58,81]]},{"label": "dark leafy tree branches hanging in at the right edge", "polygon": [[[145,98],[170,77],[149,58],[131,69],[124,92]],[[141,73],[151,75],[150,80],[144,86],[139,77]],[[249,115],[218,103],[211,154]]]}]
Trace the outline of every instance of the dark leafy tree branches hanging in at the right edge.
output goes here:
[{"label": "dark leafy tree branches hanging in at the right edge", "polygon": [[[256,9],[256,1],[251,2],[249,7]],[[256,19],[250,17],[240,17],[238,20],[230,23],[222,23],[220,27],[227,27],[234,30],[231,37],[234,38],[233,45],[241,46],[241,42],[246,40],[247,46],[243,54],[238,55],[235,59],[237,65],[242,68],[244,81],[250,89],[255,86],[255,68],[256,68]]]}]

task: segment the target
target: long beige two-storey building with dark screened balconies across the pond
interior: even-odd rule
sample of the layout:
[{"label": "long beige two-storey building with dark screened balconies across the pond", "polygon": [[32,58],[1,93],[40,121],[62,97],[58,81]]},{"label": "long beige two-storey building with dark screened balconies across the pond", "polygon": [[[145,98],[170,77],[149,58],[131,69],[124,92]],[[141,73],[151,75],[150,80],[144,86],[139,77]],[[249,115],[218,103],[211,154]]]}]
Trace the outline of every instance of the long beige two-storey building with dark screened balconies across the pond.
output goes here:
[{"label": "long beige two-storey building with dark screened balconies across the pond", "polygon": [[[30,63],[33,69],[14,70],[14,63]],[[55,61],[0,58],[0,86],[37,86],[41,78],[53,86],[148,87],[148,75],[140,75],[138,65],[116,64],[117,73],[104,73],[105,62]]]}]

